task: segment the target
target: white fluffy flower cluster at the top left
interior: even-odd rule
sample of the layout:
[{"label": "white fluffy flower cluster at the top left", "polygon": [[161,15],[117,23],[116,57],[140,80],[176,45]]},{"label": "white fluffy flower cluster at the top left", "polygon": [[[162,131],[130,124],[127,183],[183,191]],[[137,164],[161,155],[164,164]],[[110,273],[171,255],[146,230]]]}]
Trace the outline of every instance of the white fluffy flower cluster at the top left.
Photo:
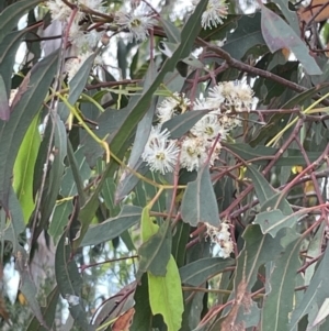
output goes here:
[{"label": "white fluffy flower cluster at the top left", "polygon": [[[103,23],[99,25],[93,23],[90,16],[97,13],[106,14],[106,9],[103,3],[104,0],[48,0],[46,5],[49,9],[53,20],[63,23],[63,26],[69,29],[68,38],[75,47],[76,58],[72,58],[67,67],[68,79],[70,80],[78,69],[81,67],[86,58],[98,46],[100,41],[104,43],[109,36],[106,32],[109,29],[117,29],[127,33],[128,40],[145,41],[148,36],[149,29],[155,24],[155,20],[144,10],[140,1],[131,1],[131,10],[117,11],[113,16],[113,23]],[[72,10],[75,9],[75,10]],[[110,18],[110,15],[109,15]],[[86,22],[89,22],[86,24]],[[95,27],[101,27],[97,31]]]}]

